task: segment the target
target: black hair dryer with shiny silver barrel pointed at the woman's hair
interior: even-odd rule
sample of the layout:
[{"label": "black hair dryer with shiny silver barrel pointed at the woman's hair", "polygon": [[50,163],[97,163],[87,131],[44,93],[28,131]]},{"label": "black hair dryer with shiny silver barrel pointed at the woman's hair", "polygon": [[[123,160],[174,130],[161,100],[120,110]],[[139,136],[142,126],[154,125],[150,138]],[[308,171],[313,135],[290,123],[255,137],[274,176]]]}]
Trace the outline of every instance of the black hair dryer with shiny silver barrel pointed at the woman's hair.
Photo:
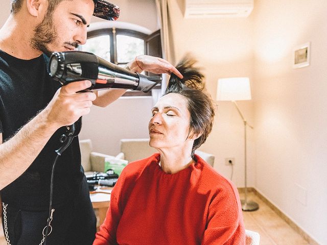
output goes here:
[{"label": "black hair dryer with shiny silver barrel pointed at the woman's hair", "polygon": [[149,92],[161,77],[148,77],[112,64],[94,54],[71,51],[54,52],[50,57],[50,76],[62,85],[89,80],[86,90],[132,89]]}]

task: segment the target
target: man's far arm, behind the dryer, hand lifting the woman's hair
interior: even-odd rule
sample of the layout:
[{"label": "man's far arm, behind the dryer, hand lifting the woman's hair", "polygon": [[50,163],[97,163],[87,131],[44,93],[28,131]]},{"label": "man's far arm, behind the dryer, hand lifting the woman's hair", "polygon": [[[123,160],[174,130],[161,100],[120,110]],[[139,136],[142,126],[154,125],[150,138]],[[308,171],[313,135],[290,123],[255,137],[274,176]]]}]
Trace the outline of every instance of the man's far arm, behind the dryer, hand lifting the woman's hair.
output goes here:
[{"label": "man's far arm, behind the dryer, hand lifting the woman's hair", "polygon": [[[129,62],[128,66],[133,72],[141,73],[143,70],[145,70],[155,74],[174,73],[179,78],[183,77],[175,66],[170,64],[167,60],[158,57],[139,55],[133,61]],[[108,89],[96,91],[97,99],[93,102],[93,104],[100,107],[106,107],[107,105],[117,100],[125,92],[125,89]]]}]

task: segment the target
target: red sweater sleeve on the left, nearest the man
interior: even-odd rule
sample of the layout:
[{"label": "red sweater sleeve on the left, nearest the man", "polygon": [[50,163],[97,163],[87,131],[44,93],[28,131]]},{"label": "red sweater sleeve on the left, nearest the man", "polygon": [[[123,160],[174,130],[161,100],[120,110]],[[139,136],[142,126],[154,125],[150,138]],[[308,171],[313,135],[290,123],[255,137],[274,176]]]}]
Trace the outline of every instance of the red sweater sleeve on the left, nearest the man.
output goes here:
[{"label": "red sweater sleeve on the left, nearest the man", "polygon": [[124,182],[125,175],[124,171],[122,171],[121,176],[111,191],[110,206],[106,218],[96,234],[96,239],[94,240],[93,245],[118,244],[116,241],[116,231],[122,215],[120,199]]}]

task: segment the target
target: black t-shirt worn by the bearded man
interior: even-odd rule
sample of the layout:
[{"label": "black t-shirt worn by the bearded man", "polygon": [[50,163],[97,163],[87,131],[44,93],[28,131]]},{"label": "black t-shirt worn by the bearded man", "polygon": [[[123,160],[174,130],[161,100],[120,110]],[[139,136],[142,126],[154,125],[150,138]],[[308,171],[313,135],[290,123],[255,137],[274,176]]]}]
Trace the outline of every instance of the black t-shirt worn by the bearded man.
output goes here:
[{"label": "black t-shirt worn by the bearded man", "polygon": [[[22,126],[44,109],[59,88],[48,75],[49,58],[41,55],[21,60],[0,51],[0,133],[10,139]],[[31,166],[1,190],[4,203],[22,210],[49,208],[51,169],[60,148],[60,128],[44,146]],[[28,140],[27,144],[32,143]],[[83,179],[78,138],[58,158],[54,176],[54,207],[70,202]]]}]

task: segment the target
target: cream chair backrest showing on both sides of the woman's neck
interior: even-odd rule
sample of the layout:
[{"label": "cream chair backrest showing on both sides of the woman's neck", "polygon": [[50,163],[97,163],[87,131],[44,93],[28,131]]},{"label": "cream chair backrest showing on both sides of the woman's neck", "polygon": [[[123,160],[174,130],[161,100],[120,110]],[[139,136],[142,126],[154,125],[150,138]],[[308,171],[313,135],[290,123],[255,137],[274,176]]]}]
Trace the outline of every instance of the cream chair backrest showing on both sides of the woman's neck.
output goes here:
[{"label": "cream chair backrest showing on both sides of the woman's neck", "polygon": [[[125,155],[125,160],[132,162],[151,156],[158,152],[149,146],[149,139],[121,139],[121,152]],[[199,155],[204,161],[214,166],[215,156],[196,150],[195,154]]]}]

